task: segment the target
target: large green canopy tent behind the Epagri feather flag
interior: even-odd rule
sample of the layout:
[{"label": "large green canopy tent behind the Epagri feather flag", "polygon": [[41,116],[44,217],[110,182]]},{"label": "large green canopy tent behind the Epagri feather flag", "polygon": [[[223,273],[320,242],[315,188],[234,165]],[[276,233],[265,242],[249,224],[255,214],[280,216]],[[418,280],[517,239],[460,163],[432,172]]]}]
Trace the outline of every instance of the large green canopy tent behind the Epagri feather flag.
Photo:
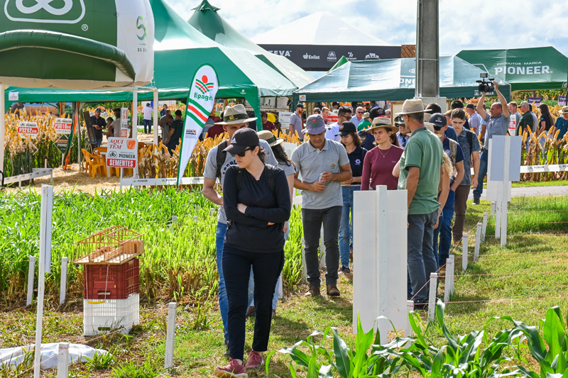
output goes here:
[{"label": "large green canopy tent behind the Epagri feather flag", "polygon": [[[207,62],[217,68],[218,98],[245,98],[260,113],[263,96],[290,96],[295,84],[248,51],[226,48],[195,30],[163,0],[151,0],[155,20],[154,78],[148,87],[138,89],[138,100],[187,99],[192,75]],[[131,101],[131,92],[73,91],[66,89],[25,89],[18,91],[20,102],[47,101]],[[9,93],[6,93],[6,101]],[[7,107],[11,103],[6,102]],[[261,123],[257,122],[257,127]]]}]

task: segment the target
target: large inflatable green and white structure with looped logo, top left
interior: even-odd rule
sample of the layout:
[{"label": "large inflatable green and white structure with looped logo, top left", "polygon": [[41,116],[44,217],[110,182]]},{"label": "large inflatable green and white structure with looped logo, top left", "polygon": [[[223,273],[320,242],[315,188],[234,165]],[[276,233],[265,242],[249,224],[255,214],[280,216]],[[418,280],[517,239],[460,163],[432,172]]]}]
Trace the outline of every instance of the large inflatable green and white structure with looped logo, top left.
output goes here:
[{"label": "large inflatable green and white structure with looped logo, top left", "polygon": [[6,0],[0,11],[0,83],[106,89],[153,77],[148,0]]}]

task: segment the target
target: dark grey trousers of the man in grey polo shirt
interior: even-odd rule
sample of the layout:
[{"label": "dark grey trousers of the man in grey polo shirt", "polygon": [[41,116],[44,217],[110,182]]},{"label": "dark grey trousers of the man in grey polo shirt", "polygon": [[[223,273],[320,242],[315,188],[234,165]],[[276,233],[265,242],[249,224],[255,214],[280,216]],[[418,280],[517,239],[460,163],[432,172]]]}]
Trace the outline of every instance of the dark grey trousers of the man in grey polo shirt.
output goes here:
[{"label": "dark grey trousers of the man in grey polo shirt", "polygon": [[325,282],[337,284],[339,269],[339,223],[341,223],[343,206],[333,206],[327,209],[302,209],[302,226],[304,227],[305,260],[307,282],[310,287],[320,287],[320,260],[317,249],[320,247],[320,233],[324,225],[325,245]]}]

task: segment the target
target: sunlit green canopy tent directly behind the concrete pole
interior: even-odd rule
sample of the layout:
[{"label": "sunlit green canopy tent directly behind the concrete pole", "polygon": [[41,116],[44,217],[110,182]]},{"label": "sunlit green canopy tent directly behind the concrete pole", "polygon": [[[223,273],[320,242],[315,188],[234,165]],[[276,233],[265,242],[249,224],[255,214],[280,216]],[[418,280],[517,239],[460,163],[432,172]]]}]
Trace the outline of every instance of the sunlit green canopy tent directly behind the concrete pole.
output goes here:
[{"label": "sunlit green canopy tent directly behind the concrete pole", "polygon": [[[334,66],[327,74],[294,92],[307,102],[328,101],[403,101],[415,95],[416,59],[349,62]],[[478,91],[479,68],[459,57],[439,58],[440,96],[448,98],[481,96]],[[510,86],[500,87],[510,97]],[[490,94],[491,95],[491,94]]]}]

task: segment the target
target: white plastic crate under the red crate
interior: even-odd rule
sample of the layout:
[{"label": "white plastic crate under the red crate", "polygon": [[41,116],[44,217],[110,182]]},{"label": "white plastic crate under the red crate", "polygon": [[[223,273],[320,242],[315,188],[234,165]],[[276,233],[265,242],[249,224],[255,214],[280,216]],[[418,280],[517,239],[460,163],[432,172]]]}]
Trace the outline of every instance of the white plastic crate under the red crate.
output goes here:
[{"label": "white plastic crate under the red crate", "polygon": [[[89,303],[90,302],[90,303]],[[101,303],[99,303],[101,302]],[[127,299],[83,299],[83,334],[99,335],[124,327],[128,332],[140,319],[140,294]]]}]

